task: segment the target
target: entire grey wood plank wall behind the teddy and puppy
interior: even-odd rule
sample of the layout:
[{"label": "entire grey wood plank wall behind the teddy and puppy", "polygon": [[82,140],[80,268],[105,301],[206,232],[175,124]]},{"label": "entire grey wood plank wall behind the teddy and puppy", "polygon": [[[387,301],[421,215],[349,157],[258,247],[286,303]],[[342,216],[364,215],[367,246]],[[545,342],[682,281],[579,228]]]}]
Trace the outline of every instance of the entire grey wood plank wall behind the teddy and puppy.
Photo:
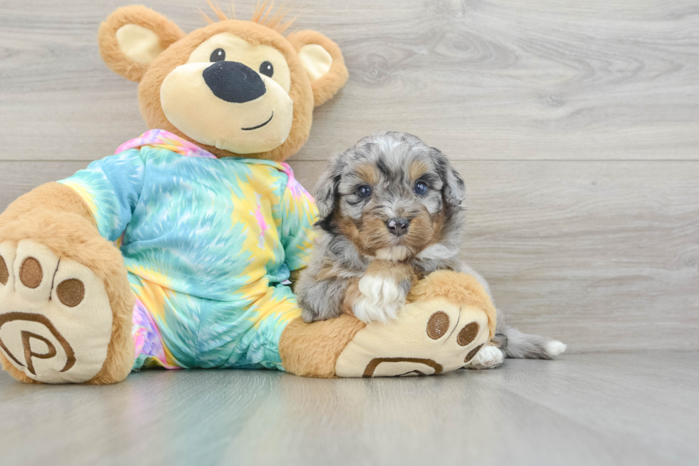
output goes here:
[{"label": "entire grey wood plank wall behind the teddy and puppy", "polygon": [[[146,130],[104,66],[117,0],[0,0],[0,208]],[[185,31],[204,0],[146,0]],[[223,2],[222,2],[223,3]],[[255,2],[238,1],[247,18]],[[292,166],[379,129],[442,148],[469,191],[462,256],[521,330],[574,352],[699,349],[699,4],[295,0],[350,81]]]}]

